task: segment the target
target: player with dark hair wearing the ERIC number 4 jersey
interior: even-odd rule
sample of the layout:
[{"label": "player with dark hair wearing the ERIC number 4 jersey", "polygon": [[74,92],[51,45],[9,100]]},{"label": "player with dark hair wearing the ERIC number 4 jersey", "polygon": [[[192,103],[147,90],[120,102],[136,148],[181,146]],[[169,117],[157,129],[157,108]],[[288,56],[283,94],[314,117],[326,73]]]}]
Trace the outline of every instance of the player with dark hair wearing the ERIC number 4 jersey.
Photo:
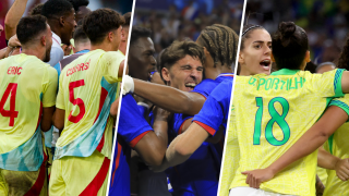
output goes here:
[{"label": "player with dark hair wearing the ERIC number 4 jersey", "polygon": [[[57,72],[52,34],[41,15],[20,20],[22,53],[0,61],[0,195],[47,195],[41,131],[51,127]],[[43,62],[44,61],[44,62]]]}]

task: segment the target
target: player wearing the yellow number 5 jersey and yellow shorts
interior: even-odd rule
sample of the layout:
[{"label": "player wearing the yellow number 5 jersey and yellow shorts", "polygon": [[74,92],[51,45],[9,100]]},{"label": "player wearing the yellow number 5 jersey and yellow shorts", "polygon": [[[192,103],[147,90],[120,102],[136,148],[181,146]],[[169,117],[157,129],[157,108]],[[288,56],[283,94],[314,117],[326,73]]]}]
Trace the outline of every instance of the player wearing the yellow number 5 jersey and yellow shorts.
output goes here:
[{"label": "player wearing the yellow number 5 jersey and yellow shorts", "polygon": [[61,72],[53,117],[61,135],[50,195],[106,195],[113,125],[109,111],[123,73],[123,57],[117,52],[123,22],[110,9],[92,12],[83,21],[91,51]]}]

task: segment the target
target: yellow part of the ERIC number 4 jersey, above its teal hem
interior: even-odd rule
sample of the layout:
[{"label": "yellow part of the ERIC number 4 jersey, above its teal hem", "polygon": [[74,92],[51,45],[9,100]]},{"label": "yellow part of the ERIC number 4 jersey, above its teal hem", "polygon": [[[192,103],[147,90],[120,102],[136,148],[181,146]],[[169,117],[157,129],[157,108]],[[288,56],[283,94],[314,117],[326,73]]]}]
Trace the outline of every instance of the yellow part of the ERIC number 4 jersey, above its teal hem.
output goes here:
[{"label": "yellow part of the ERIC number 4 jersey, above its teal hem", "polygon": [[43,107],[56,105],[57,71],[35,56],[0,61],[0,155],[27,142],[39,126]]}]

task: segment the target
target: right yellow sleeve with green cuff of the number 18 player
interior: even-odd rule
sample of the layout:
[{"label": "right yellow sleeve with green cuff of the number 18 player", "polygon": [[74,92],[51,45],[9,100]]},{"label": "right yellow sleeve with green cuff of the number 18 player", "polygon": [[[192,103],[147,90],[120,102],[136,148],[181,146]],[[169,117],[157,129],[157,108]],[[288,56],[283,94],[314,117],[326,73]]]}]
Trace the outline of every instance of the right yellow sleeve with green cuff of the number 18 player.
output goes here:
[{"label": "right yellow sleeve with green cuff of the number 18 player", "polygon": [[321,97],[342,97],[342,69],[336,69],[323,74],[313,74],[312,86]]}]

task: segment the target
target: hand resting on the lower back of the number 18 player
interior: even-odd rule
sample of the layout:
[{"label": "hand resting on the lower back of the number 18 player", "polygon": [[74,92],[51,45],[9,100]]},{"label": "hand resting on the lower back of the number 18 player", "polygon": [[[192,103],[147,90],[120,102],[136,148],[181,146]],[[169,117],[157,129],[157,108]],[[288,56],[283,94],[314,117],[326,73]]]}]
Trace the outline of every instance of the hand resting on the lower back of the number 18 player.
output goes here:
[{"label": "hand resting on the lower back of the number 18 player", "polygon": [[260,188],[261,183],[265,181],[269,181],[275,175],[268,169],[252,170],[252,171],[245,171],[241,173],[244,175],[248,175],[246,184],[249,184],[250,187],[253,187],[253,188]]}]

